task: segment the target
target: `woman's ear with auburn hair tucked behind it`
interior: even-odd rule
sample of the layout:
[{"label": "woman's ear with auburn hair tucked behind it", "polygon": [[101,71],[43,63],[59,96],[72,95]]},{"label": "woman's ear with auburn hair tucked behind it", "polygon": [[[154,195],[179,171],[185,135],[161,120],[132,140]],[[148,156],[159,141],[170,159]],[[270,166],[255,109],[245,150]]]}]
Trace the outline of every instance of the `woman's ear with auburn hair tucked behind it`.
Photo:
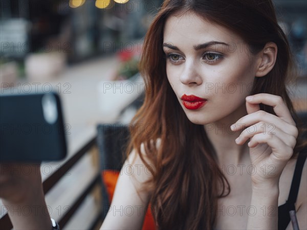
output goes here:
[{"label": "woman's ear with auburn hair tucked behind it", "polygon": [[259,65],[256,69],[256,77],[266,76],[274,67],[277,56],[277,45],[274,42],[268,42],[265,48],[259,53]]}]

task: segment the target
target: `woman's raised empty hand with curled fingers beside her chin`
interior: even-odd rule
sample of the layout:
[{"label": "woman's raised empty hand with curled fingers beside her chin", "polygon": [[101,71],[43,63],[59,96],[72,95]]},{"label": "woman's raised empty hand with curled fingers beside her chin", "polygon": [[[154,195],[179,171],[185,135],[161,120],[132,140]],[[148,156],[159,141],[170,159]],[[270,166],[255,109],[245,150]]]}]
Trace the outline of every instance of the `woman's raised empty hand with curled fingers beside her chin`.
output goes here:
[{"label": "woman's raised empty hand with curled fingers beside her chin", "polygon": [[[259,104],[272,106],[276,116],[260,110]],[[283,168],[293,154],[298,129],[291,113],[281,97],[256,94],[246,98],[248,114],[232,125],[233,131],[241,131],[236,139],[243,145],[248,139],[253,186],[268,188],[278,186]]]}]

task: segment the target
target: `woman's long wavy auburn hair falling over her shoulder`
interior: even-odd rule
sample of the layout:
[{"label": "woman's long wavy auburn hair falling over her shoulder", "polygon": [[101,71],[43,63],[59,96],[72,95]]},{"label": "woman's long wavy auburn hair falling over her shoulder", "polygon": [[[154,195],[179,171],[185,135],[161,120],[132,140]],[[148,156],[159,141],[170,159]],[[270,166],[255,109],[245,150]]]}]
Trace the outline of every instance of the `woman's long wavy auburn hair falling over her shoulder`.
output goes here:
[{"label": "woman's long wavy auburn hair falling over her shoulder", "polygon": [[[170,15],[188,11],[234,31],[256,53],[267,42],[275,42],[278,47],[276,63],[267,76],[255,77],[251,95],[281,96],[294,120],[300,121],[286,88],[294,80],[296,68],[270,0],[165,1],[145,36],[140,60],[145,99],[131,120],[133,128],[126,149],[126,155],[134,149],[152,174],[146,189],[150,191],[157,229],[212,229],[217,199],[230,193],[204,126],[188,120],[166,76],[162,49],[165,21]],[[275,114],[270,106],[260,104],[260,109]],[[302,130],[298,129],[292,158],[305,145],[300,138]],[[158,139],[160,145],[156,148]],[[141,153],[142,144],[148,160]]]}]

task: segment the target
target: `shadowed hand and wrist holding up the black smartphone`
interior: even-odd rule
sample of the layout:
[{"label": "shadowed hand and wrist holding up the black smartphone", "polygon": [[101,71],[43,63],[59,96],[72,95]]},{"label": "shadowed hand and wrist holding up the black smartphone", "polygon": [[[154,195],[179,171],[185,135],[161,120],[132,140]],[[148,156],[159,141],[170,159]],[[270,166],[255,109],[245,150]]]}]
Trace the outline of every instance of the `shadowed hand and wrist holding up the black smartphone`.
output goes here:
[{"label": "shadowed hand and wrist holding up the black smartphone", "polygon": [[[0,198],[14,229],[52,229],[40,164],[1,163],[0,188]],[[27,214],[21,212],[24,207]]]}]

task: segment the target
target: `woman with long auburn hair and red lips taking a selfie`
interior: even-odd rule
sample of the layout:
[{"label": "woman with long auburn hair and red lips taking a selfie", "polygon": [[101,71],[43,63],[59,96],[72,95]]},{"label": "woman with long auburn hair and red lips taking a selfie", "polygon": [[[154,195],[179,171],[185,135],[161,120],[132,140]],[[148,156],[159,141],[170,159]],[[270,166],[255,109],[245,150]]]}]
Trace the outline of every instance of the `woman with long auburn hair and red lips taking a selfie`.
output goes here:
[{"label": "woman with long auburn hair and red lips taking a selfie", "polygon": [[[140,229],[149,202],[157,229],[293,229],[291,209],[307,228],[306,144],[286,90],[294,67],[271,1],[165,1],[140,67],[147,90],[132,123],[151,129],[132,130],[124,167],[141,170],[119,176],[101,229]],[[36,198],[5,202],[46,205],[27,178]],[[123,207],[133,212],[111,211]]]}]

